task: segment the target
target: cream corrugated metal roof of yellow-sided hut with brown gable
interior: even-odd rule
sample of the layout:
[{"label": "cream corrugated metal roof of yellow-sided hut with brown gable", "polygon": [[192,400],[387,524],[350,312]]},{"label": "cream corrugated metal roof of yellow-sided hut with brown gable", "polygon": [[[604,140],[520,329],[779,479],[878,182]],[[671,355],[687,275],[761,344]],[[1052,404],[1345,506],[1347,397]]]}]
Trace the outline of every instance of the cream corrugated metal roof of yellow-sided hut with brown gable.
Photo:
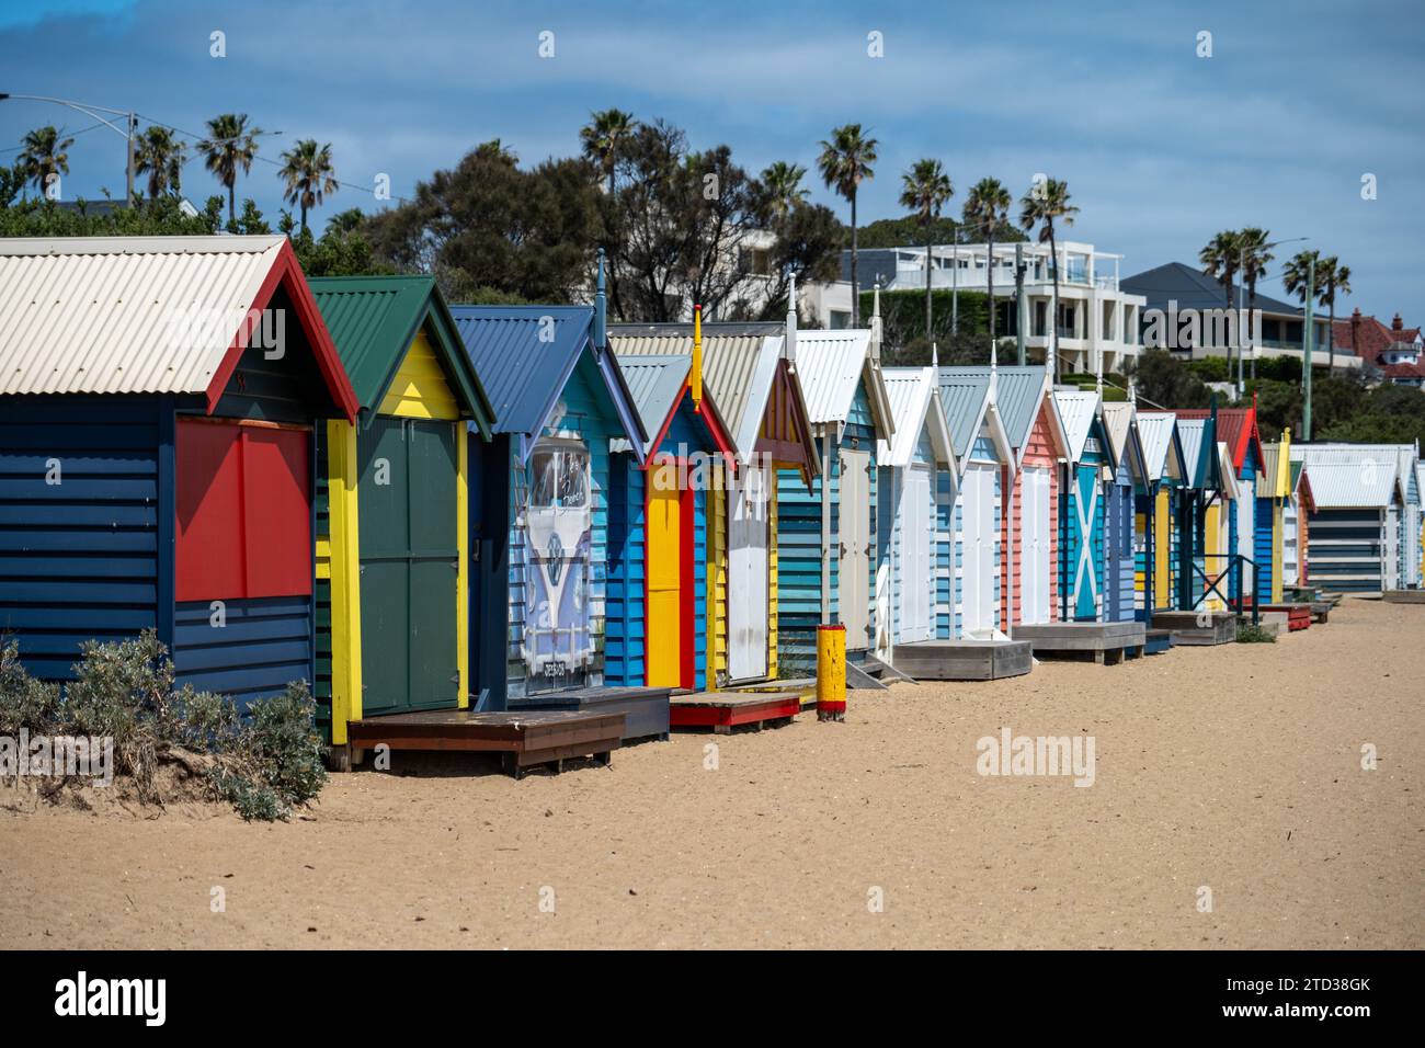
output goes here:
[{"label": "cream corrugated metal roof of yellow-sided hut with brown gable", "polygon": [[[704,324],[703,382],[731,429],[738,458],[752,453],[782,354],[779,324]],[[623,361],[693,352],[691,324],[616,324],[608,346]]]}]

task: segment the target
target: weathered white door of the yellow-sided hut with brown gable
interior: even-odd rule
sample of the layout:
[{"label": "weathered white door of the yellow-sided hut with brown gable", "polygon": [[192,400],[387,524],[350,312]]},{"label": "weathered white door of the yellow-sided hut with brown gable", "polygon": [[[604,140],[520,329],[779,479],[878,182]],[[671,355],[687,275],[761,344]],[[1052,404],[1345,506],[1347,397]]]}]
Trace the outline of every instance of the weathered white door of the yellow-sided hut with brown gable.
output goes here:
[{"label": "weathered white door of the yellow-sided hut with brown gable", "polygon": [[755,466],[748,468],[728,496],[727,676],[731,680],[767,676],[768,498],[767,471]]}]

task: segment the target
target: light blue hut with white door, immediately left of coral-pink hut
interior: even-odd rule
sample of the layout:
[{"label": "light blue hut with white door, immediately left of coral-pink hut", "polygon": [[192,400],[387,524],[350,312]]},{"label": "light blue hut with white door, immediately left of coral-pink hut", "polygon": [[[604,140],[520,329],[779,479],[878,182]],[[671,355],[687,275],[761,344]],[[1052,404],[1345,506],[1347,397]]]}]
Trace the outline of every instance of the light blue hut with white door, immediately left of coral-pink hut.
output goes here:
[{"label": "light blue hut with white door, immediately left of coral-pink hut", "polygon": [[996,406],[988,368],[940,368],[940,405],[956,453],[953,502],[942,529],[952,533],[952,558],[938,582],[938,632],[950,639],[1005,635],[1002,613],[1003,478],[1015,451]]}]

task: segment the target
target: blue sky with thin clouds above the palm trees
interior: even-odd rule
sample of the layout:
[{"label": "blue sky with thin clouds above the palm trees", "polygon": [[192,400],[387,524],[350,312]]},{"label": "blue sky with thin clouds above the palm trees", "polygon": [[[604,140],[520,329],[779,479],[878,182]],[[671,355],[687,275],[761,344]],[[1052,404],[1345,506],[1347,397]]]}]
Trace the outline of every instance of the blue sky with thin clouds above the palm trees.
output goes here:
[{"label": "blue sky with thin clouds above the palm trees", "polygon": [[[247,113],[274,133],[261,153],[274,163],[238,195],[274,222],[278,155],[298,138],[331,143],[349,184],[319,228],[342,208],[386,207],[378,175],[409,195],[489,138],[527,164],[573,154],[607,107],[668,120],[697,148],[727,143],[751,171],[799,163],[812,198],[849,221],[815,160],[832,127],[859,121],[879,141],[862,222],[903,214],[901,173],[921,157],[945,164],[953,214],[979,178],[1017,198],[1043,173],[1080,207],[1069,235],[1121,254],[1124,277],[1196,264],[1216,231],[1258,225],[1351,267],[1340,312],[1401,312],[1406,327],[1425,322],[1422,83],[1418,0],[0,0],[0,91],[195,135]],[[80,133],[66,198],[123,192],[121,137],[47,103],[0,101],[0,163],[43,124]],[[201,207],[218,191],[188,164],[185,195]],[[1277,250],[1263,292],[1285,297],[1280,261],[1302,247]]]}]

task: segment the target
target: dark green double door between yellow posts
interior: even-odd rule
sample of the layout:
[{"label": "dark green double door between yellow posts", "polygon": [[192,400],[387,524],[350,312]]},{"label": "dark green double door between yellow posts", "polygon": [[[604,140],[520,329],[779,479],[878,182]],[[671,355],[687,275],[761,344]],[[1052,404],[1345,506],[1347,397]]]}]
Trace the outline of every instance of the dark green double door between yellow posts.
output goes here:
[{"label": "dark green double door between yellow posts", "polygon": [[366,714],[459,700],[455,439],[450,422],[385,416],[356,438]]}]

